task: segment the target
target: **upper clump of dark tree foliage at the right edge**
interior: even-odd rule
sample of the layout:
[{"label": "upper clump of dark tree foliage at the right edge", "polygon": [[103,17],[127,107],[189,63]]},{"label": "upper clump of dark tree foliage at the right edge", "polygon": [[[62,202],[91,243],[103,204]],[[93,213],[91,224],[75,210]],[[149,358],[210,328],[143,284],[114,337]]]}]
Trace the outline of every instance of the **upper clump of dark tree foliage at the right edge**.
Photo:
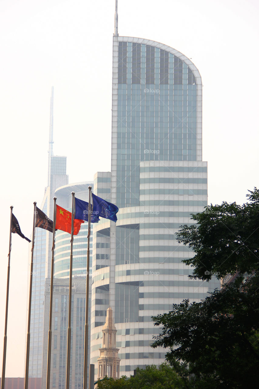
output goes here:
[{"label": "upper clump of dark tree foliage at the right edge", "polygon": [[210,280],[212,273],[224,277],[236,270],[244,274],[259,266],[259,190],[249,191],[249,202],[238,205],[223,202],[192,214],[196,224],[182,226],[178,241],[196,252],[190,259],[193,278]]}]

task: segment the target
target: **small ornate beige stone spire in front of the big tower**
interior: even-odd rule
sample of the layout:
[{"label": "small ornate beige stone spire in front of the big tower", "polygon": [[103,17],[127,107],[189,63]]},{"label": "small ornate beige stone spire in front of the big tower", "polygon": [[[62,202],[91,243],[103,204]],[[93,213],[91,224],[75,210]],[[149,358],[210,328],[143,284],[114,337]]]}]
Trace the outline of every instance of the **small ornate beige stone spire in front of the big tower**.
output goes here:
[{"label": "small ornate beige stone spire in front of the big tower", "polygon": [[106,375],[112,378],[119,378],[120,360],[118,357],[119,349],[116,348],[116,332],[112,317],[112,308],[107,309],[106,321],[103,326],[103,347],[100,350],[98,361],[98,378],[104,378]]}]

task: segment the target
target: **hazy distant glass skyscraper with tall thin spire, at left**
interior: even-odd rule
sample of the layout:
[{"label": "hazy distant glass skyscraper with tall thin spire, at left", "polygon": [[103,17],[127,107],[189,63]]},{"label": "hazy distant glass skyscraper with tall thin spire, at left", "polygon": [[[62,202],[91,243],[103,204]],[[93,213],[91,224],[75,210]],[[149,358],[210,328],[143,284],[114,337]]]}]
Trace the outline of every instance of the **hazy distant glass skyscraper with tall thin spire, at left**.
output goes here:
[{"label": "hazy distant glass skyscraper with tall thin spire, at left", "polygon": [[[55,189],[68,183],[68,175],[66,175],[66,157],[53,155],[53,99],[54,88],[52,87],[49,125],[48,182],[42,203],[41,205],[39,203],[37,204],[37,206],[51,219],[53,218],[53,197]],[[41,228],[36,228],[33,256],[29,377],[42,377],[44,287],[45,279],[50,277],[51,260],[49,260],[49,258],[51,259],[51,247],[52,233],[42,230]],[[31,251],[29,250],[29,263],[30,261]],[[28,277],[28,286],[29,282],[30,274]]]}]

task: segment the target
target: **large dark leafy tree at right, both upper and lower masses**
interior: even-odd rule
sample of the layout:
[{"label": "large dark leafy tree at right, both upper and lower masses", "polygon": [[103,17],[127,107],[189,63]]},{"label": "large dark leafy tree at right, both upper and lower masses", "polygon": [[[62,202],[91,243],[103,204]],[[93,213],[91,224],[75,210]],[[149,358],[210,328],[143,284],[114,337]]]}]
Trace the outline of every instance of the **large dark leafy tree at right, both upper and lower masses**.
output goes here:
[{"label": "large dark leafy tree at right, both upper and lower masses", "polygon": [[[176,371],[189,364],[193,387],[247,388],[257,382],[259,365],[259,191],[249,202],[210,205],[192,215],[197,224],[182,226],[178,241],[195,255],[183,262],[191,278],[239,276],[199,303],[184,300],[168,314],[153,317],[162,326],[152,347],[164,346]],[[182,371],[184,371],[182,369]],[[186,374],[186,372],[185,372]]]}]

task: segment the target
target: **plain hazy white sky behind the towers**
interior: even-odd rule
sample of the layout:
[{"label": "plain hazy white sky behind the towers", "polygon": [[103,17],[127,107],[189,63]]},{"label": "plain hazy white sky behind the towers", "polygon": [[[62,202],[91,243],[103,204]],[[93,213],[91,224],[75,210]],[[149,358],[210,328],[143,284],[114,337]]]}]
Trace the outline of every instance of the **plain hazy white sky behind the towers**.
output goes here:
[{"label": "plain hazy white sky behind the towers", "polygon": [[[10,205],[30,236],[47,184],[49,101],[54,154],[69,182],[110,170],[114,0],[0,0],[0,366]],[[208,201],[243,203],[259,185],[257,0],[119,0],[119,34],[171,46],[203,80]],[[49,215],[51,217],[51,215]],[[6,377],[23,377],[28,243],[12,235]]]}]

